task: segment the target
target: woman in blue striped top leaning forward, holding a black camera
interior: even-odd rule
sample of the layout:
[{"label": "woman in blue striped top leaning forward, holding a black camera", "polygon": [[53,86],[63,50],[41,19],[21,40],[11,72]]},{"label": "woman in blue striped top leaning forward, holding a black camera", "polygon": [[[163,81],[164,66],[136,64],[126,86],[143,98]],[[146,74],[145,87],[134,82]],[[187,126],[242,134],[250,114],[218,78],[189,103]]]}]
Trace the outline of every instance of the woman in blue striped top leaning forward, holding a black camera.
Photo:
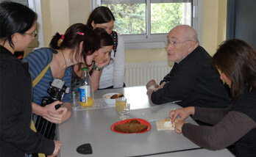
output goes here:
[{"label": "woman in blue striped top leaning forward, holding a black camera", "polygon": [[[56,33],[51,39],[51,48],[39,48],[29,53],[23,62],[29,62],[32,80],[35,80],[43,70],[46,73],[33,88],[33,113],[43,116],[51,123],[60,124],[71,117],[71,92],[64,95],[63,105],[59,109],[55,101],[45,107],[40,106],[43,96],[49,96],[49,82],[61,78],[71,89],[72,65],[84,63],[90,66],[94,59],[93,52],[99,48],[99,42],[93,29],[82,23],[70,26],[65,34]],[[49,67],[47,67],[50,65]],[[34,121],[36,116],[34,118]]]}]

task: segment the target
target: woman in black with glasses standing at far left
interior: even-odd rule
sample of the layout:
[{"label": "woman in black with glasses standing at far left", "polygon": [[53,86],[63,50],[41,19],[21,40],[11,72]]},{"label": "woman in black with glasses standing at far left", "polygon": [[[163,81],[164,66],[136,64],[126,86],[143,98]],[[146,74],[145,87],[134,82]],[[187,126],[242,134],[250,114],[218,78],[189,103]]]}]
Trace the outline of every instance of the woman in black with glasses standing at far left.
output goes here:
[{"label": "woman in black with glasses standing at far left", "polygon": [[22,4],[0,4],[1,70],[1,156],[46,153],[57,156],[60,141],[44,138],[30,128],[32,118],[32,80],[29,64],[14,56],[24,51],[36,36],[38,15]]}]

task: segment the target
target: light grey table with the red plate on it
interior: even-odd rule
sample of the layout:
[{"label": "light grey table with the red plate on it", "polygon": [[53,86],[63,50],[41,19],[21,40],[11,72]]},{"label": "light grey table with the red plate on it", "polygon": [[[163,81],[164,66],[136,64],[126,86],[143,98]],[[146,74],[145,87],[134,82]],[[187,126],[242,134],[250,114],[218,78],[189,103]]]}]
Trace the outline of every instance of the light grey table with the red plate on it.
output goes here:
[{"label": "light grey table with the red plate on it", "polygon": [[[176,103],[154,105],[146,95],[146,87],[98,90],[94,98],[100,99],[109,92],[124,92],[131,104],[130,117],[148,120],[151,130],[143,134],[118,134],[111,131],[110,126],[119,121],[115,107],[77,110],[72,112],[69,120],[57,125],[57,139],[62,142],[58,156],[232,156],[227,149],[202,149],[175,131],[157,131],[155,120],[168,117],[171,109],[180,106]],[[195,123],[191,118],[186,121]],[[77,153],[77,147],[85,143],[92,146],[92,154]]]}]

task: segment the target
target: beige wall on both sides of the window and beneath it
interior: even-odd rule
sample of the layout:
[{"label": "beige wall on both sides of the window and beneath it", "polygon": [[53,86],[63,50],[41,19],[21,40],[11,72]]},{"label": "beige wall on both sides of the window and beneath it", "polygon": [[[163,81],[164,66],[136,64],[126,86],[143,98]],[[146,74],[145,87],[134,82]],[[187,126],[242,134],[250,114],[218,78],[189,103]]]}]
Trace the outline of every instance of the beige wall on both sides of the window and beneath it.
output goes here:
[{"label": "beige wall on both sides of the window and beneath it", "polygon": [[[61,4],[61,5],[60,5]],[[65,30],[73,23],[86,23],[90,15],[89,0],[43,0],[43,32],[45,46],[51,37]],[[61,6],[61,7],[60,7]],[[79,11],[78,11],[79,10]],[[226,37],[227,0],[202,1],[202,43],[201,45],[213,55],[218,44]],[[127,50],[126,62],[149,62],[166,60],[165,48]]]}]

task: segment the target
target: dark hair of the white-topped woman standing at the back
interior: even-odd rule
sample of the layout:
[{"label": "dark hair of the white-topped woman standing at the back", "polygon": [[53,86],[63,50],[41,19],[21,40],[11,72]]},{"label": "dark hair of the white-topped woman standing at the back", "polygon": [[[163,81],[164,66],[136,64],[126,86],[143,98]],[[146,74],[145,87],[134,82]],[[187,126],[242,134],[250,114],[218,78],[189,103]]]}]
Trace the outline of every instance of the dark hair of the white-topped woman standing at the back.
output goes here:
[{"label": "dark hair of the white-topped woman standing at the back", "polygon": [[96,7],[93,12],[90,13],[90,16],[87,21],[87,26],[93,29],[93,26],[91,26],[91,23],[94,21],[94,23],[108,23],[111,20],[115,21],[115,17],[113,13],[110,11],[108,7],[100,6]]}]

